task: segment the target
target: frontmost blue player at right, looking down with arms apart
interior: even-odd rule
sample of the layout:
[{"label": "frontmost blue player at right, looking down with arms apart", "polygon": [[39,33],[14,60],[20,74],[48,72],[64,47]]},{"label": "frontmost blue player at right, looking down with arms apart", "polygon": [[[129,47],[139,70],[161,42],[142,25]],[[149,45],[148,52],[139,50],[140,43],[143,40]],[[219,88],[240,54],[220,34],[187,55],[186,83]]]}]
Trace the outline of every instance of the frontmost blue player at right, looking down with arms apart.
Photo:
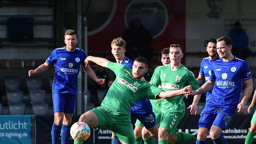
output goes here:
[{"label": "frontmost blue player at right, looking down with arms apart", "polygon": [[[249,66],[245,61],[233,56],[231,49],[232,40],[229,37],[218,38],[217,52],[222,59],[212,64],[209,80],[203,86],[185,94],[188,97],[206,93],[213,88],[198,122],[197,144],[205,144],[209,132],[214,144],[227,144],[221,132],[227,128],[237,109],[239,114],[244,112],[251,96],[252,75]],[[245,90],[239,103],[242,80]]]}]

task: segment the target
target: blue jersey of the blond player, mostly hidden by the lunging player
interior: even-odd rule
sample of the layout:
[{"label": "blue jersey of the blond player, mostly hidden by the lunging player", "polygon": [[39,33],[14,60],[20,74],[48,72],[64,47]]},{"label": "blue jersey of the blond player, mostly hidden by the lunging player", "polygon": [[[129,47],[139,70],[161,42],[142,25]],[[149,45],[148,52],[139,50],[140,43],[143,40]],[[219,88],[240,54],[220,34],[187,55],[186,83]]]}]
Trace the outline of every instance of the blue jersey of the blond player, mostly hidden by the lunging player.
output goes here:
[{"label": "blue jersey of the blond player, mostly hidden by the lunging player", "polygon": [[[127,67],[129,67],[129,68],[132,69],[133,61],[130,60],[128,57],[124,57],[124,60],[123,60],[123,62],[122,62],[121,64],[123,64],[123,65],[125,65],[125,66],[127,66]],[[149,99],[143,98],[143,99],[141,99],[141,100],[135,102],[135,103],[132,105],[131,109],[143,108],[143,107],[147,106],[148,104],[151,105]],[[152,107],[152,106],[151,106],[151,107]]]}]

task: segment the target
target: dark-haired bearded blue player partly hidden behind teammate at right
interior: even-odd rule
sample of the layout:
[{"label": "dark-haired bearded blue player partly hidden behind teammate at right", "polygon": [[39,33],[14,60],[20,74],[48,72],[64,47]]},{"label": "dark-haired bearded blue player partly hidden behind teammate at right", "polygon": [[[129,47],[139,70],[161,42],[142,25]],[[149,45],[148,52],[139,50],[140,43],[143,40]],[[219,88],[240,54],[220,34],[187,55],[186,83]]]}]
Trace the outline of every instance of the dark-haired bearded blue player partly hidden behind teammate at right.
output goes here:
[{"label": "dark-haired bearded blue player partly hidden behind teammate at right", "polygon": [[[196,79],[199,85],[208,81],[211,75],[212,63],[220,59],[219,55],[217,54],[216,44],[217,44],[216,39],[209,39],[207,41],[206,51],[209,57],[204,58],[200,64],[199,75]],[[211,93],[212,93],[212,89],[206,93],[206,100],[208,100]]]}]

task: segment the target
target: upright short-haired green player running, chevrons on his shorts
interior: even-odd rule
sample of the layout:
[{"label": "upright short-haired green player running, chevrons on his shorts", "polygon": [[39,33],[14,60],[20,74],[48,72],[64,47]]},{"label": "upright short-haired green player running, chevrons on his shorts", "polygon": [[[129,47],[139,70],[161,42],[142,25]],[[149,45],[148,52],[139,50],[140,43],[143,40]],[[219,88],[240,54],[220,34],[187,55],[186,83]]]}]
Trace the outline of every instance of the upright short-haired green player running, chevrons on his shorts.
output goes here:
[{"label": "upright short-haired green player running, chevrons on his shorts", "polygon": [[[154,86],[161,85],[165,91],[179,90],[186,85],[191,85],[192,89],[199,88],[194,74],[181,64],[183,57],[181,45],[172,44],[170,46],[169,57],[171,63],[167,66],[158,68],[151,78]],[[185,113],[183,94],[164,99],[161,106],[161,122],[158,130],[159,144],[196,141],[196,136],[188,133],[177,132],[177,126]],[[193,103],[188,107],[191,114],[196,114],[198,99],[201,95],[194,97]],[[167,141],[168,139],[168,141]]]}]

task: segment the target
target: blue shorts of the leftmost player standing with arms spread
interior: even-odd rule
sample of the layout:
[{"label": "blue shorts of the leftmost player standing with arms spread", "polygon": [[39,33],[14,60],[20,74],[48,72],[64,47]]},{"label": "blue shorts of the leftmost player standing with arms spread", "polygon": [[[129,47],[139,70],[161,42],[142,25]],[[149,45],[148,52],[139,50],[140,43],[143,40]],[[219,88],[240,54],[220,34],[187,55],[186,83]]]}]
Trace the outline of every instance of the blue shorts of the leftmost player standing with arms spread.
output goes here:
[{"label": "blue shorts of the leftmost player standing with arms spread", "polygon": [[76,95],[69,93],[52,93],[53,112],[73,114],[76,106]]}]

